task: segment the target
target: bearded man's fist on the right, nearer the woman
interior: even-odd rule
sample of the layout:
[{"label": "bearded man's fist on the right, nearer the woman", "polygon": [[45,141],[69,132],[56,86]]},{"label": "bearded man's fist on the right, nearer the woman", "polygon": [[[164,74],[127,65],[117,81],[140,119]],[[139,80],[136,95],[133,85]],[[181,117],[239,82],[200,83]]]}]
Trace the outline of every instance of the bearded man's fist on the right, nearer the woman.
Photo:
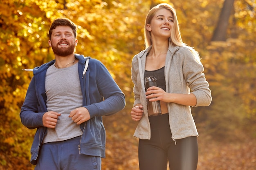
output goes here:
[{"label": "bearded man's fist on the right, nearer the woman", "polygon": [[90,114],[87,108],[85,107],[80,107],[72,110],[70,112],[69,117],[72,117],[72,120],[80,125],[81,123],[88,121],[90,119]]}]

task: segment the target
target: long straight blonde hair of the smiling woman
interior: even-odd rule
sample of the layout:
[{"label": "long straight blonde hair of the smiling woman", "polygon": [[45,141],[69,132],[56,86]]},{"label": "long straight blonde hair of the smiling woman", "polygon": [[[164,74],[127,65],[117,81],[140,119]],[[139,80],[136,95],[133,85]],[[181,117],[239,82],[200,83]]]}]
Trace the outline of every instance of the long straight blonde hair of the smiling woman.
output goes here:
[{"label": "long straight blonde hair of the smiling woman", "polygon": [[151,20],[155,16],[155,13],[159,9],[167,9],[173,14],[173,28],[171,29],[171,36],[169,38],[169,43],[172,44],[173,46],[186,46],[189,48],[189,50],[193,53],[195,56],[195,59],[200,62],[199,54],[196,52],[192,47],[187,46],[186,44],[183,43],[182,38],[181,38],[181,33],[180,33],[180,26],[179,22],[177,20],[177,15],[176,15],[176,9],[172,7],[170,4],[162,3],[158,4],[157,6],[153,7],[148,11],[146,20],[145,20],[145,26],[144,26],[144,37],[145,37],[145,47],[148,48],[150,45],[153,44],[152,42],[152,37],[150,35],[150,31],[146,29],[147,24],[150,24]]}]

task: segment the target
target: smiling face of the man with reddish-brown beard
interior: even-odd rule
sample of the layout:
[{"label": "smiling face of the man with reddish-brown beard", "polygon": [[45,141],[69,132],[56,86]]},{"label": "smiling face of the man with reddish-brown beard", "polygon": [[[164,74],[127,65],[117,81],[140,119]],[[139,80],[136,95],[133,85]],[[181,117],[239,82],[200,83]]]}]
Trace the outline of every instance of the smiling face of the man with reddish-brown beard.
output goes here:
[{"label": "smiling face of the man with reddish-brown beard", "polygon": [[65,57],[75,52],[77,39],[69,26],[56,26],[48,43],[55,55]]}]

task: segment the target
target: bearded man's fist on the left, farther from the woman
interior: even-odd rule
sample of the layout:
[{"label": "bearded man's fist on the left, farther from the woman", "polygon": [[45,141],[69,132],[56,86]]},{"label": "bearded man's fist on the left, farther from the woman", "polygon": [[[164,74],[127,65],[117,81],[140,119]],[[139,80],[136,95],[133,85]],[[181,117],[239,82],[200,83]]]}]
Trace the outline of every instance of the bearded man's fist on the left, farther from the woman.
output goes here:
[{"label": "bearded man's fist on the left, farther from the woman", "polygon": [[55,128],[60,113],[49,111],[43,115],[43,126],[47,128]]}]

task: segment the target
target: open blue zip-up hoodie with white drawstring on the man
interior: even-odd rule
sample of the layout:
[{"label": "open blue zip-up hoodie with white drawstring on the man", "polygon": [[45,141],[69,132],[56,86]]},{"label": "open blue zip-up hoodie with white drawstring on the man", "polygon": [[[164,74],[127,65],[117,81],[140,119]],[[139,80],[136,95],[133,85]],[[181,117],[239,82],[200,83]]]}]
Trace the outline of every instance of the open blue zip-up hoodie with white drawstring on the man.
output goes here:
[{"label": "open blue zip-up hoodie with white drawstring on the man", "polygon": [[[125,96],[107,68],[96,59],[75,54],[79,60],[78,72],[83,94],[83,107],[90,113],[90,120],[80,125],[83,134],[79,145],[79,153],[91,156],[105,157],[106,132],[102,116],[112,115],[125,106]],[[90,60],[89,60],[90,59]],[[29,129],[37,128],[31,146],[30,162],[36,165],[40,146],[47,134],[43,126],[43,115],[47,112],[45,94],[45,74],[47,68],[55,60],[33,69],[25,101],[21,107],[20,119]]]}]

